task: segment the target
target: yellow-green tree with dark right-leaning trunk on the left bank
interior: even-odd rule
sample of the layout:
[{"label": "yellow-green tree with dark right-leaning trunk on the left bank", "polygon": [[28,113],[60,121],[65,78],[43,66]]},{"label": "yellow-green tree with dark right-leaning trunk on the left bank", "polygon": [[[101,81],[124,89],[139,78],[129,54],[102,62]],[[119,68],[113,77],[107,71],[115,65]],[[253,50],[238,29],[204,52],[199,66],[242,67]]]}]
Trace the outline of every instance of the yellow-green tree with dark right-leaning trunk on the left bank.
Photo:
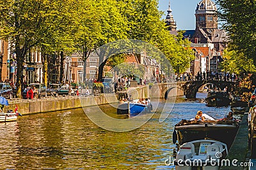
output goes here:
[{"label": "yellow-green tree with dark right-leaning trunk on the left bank", "polygon": [[[102,79],[103,68],[107,62],[105,59],[116,53],[112,51],[113,49],[118,49],[109,48],[108,45],[104,45],[117,39],[126,39],[129,28],[127,27],[127,18],[123,17],[120,13],[118,2],[112,0],[100,0],[97,2],[95,8],[100,9],[100,16],[104,16],[100,17],[101,36],[96,44],[97,47],[100,47],[100,50],[95,50],[97,56],[99,56],[99,63],[102,63],[98,69],[98,80],[100,80]],[[103,6],[104,10],[102,10]],[[108,51],[109,49],[111,51]]]}]

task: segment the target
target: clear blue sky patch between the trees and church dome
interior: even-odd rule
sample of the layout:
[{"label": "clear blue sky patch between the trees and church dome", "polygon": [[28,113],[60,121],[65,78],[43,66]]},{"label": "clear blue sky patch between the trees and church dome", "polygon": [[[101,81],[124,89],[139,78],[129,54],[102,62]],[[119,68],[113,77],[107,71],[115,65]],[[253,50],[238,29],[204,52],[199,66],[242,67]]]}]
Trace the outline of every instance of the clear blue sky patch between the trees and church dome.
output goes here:
[{"label": "clear blue sky patch between the trees and church dome", "polygon": [[[176,21],[177,30],[196,28],[195,10],[196,5],[202,0],[159,0],[158,10],[164,11],[166,17],[169,2],[171,4],[173,19]],[[214,3],[216,1],[212,0]]]}]

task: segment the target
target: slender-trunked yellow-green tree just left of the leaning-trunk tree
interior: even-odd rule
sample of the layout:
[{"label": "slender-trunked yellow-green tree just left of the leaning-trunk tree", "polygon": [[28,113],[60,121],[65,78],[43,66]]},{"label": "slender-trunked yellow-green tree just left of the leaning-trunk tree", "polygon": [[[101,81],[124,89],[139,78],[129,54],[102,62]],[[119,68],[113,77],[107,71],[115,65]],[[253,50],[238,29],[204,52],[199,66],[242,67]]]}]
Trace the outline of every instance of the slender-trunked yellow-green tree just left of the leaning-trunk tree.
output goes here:
[{"label": "slender-trunked yellow-green tree just left of the leaning-trunk tree", "polygon": [[83,53],[83,78],[86,80],[86,59],[97,48],[102,37],[100,26],[100,13],[102,8],[95,8],[97,1],[81,1],[77,6],[76,26],[74,31],[74,46],[78,52]]}]

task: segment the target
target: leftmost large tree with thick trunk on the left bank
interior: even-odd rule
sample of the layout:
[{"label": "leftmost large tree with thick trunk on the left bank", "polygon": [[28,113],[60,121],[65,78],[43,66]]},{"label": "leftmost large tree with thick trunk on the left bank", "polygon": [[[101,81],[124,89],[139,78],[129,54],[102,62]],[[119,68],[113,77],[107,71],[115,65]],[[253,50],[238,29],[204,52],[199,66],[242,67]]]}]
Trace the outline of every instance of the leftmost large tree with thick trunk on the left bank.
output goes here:
[{"label": "leftmost large tree with thick trunk on the left bank", "polygon": [[72,1],[0,1],[0,38],[9,40],[17,55],[17,94],[20,97],[23,63],[29,49],[44,43],[66,24]]}]

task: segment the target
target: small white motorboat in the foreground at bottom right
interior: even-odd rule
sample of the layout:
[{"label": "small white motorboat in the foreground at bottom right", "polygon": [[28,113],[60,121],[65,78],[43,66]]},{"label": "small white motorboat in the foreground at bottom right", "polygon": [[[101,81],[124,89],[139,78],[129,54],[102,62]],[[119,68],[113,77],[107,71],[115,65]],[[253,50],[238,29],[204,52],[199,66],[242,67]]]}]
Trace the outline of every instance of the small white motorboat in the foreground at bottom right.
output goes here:
[{"label": "small white motorboat in the foreground at bottom right", "polygon": [[200,139],[184,143],[174,161],[176,170],[188,169],[219,169],[222,159],[228,154],[225,143],[209,139]]}]

